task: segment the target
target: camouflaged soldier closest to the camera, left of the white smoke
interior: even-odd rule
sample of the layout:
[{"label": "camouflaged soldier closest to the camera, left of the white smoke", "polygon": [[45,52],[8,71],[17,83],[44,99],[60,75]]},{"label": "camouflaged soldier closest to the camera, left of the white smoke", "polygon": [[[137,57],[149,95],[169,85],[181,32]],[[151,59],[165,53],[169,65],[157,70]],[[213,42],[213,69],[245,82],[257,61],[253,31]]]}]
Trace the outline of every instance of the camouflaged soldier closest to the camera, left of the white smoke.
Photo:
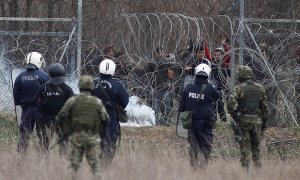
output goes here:
[{"label": "camouflaged soldier closest to the camera, left of the white smoke", "polygon": [[58,122],[69,121],[70,131],[64,133],[70,134],[70,169],[73,178],[76,176],[84,152],[93,174],[99,175],[99,131],[109,121],[109,116],[102,101],[91,96],[90,92],[94,88],[92,78],[82,76],[78,87],[80,94],[71,97],[56,117]]}]

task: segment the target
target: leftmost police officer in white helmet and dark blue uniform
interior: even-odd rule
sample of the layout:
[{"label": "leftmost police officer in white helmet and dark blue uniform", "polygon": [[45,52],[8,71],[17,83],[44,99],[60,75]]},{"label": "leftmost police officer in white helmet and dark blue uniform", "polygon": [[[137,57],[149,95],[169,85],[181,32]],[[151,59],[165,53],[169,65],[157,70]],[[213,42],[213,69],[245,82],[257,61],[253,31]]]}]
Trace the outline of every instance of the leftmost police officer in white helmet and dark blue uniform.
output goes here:
[{"label": "leftmost police officer in white helmet and dark blue uniform", "polygon": [[21,105],[22,115],[19,126],[18,152],[26,151],[36,124],[39,142],[42,147],[42,137],[40,136],[39,119],[41,114],[37,110],[36,93],[38,89],[49,80],[46,73],[39,70],[44,61],[43,56],[38,52],[31,52],[26,56],[26,71],[19,74],[15,80],[13,96],[15,105]]}]

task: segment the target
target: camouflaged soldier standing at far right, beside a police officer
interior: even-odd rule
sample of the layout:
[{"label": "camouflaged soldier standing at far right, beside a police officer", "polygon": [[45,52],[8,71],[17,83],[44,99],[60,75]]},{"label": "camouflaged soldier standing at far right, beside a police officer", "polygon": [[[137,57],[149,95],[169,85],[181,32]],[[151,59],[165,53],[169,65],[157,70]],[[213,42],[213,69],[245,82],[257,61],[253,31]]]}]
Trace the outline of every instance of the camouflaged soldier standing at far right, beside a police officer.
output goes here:
[{"label": "camouflaged soldier standing at far right, beside a police officer", "polygon": [[240,84],[234,87],[229,97],[228,111],[241,132],[239,145],[242,167],[249,170],[250,152],[254,166],[261,167],[260,141],[267,128],[267,96],[265,88],[253,81],[249,66],[239,66],[237,75]]}]

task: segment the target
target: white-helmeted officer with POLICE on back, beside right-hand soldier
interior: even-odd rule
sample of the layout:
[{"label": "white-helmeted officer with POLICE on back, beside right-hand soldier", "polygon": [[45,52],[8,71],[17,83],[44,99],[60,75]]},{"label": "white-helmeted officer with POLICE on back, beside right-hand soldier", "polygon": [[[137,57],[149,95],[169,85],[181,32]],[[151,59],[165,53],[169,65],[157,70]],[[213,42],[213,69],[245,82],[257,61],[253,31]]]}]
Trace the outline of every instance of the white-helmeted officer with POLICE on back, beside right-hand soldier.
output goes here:
[{"label": "white-helmeted officer with POLICE on back, beside right-hand soldier", "polygon": [[194,168],[208,163],[213,141],[214,104],[220,95],[208,83],[210,71],[207,64],[195,68],[195,82],[184,89],[178,109],[180,113],[192,113],[191,123],[184,128],[188,129],[190,163]]}]

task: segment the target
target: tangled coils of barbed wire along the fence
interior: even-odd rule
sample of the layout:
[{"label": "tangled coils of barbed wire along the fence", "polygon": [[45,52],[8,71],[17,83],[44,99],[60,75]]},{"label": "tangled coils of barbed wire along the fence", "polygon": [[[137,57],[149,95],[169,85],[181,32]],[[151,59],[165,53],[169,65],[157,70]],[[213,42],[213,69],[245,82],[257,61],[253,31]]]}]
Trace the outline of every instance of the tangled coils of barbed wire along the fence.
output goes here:
[{"label": "tangled coils of barbed wire along the fence", "polygon": [[[64,3],[66,2],[64,1]],[[95,5],[91,2],[89,4]],[[242,28],[239,20],[230,18],[227,15],[196,17],[177,13],[132,14],[128,13],[130,11],[126,10],[126,8],[125,10],[124,8],[122,9],[123,14],[116,15],[116,21],[105,23],[106,26],[111,27],[107,37],[103,38],[105,40],[99,40],[106,35],[105,33],[99,33],[99,27],[104,26],[103,24],[87,30],[91,36],[86,36],[88,38],[83,41],[83,57],[80,67],[83,74],[99,75],[98,66],[104,55],[105,43],[114,42],[115,48],[120,49],[120,54],[113,58],[119,68],[116,77],[123,81],[132,95],[138,95],[149,106],[154,106],[153,101],[157,99],[155,93],[160,92],[162,89],[162,87],[154,86],[155,78],[160,77],[155,76],[156,71],[149,72],[146,68],[150,63],[155,65],[168,64],[170,68],[178,69],[176,78],[168,87],[169,92],[172,92],[172,95],[177,98],[175,98],[174,106],[172,107],[172,110],[175,112],[182,90],[184,66],[186,64],[183,54],[187,51],[190,40],[198,44],[206,40],[210,52],[213,53],[216,47],[222,45],[220,42],[221,37],[224,35],[231,37],[232,47],[228,53],[233,58],[231,70],[235,70],[237,63],[234,60],[238,58],[238,53],[241,51],[239,48],[241,44],[237,41],[240,28]],[[107,11],[104,11],[104,13],[107,13]],[[90,12],[87,16],[94,16],[94,14]],[[119,26],[119,28],[115,28],[116,26]],[[299,55],[296,53],[299,48],[297,43],[300,40],[300,36],[297,25],[291,24],[289,27],[282,27],[279,23],[275,25],[249,23],[248,26],[255,42],[267,45],[267,47],[260,47],[261,51],[265,53],[266,61],[263,61],[263,57],[255,47],[249,32],[246,33],[245,43],[243,44],[243,62],[254,69],[256,81],[261,82],[268,92],[273,93],[269,95],[269,104],[272,109],[270,111],[278,114],[278,116],[274,116],[274,119],[272,118],[274,124],[283,125],[289,123],[292,115],[297,116],[297,108],[299,109],[299,105],[297,106],[299,101],[299,78],[297,77],[299,77],[300,70],[298,66]],[[58,25],[54,25],[54,27],[60,29]],[[62,25],[61,29],[65,29],[64,27],[65,25]],[[91,24],[87,25],[87,27],[91,27]],[[103,32],[107,32],[107,29],[109,28],[105,27]],[[92,35],[95,34],[94,32],[97,32],[98,35]],[[94,39],[91,37],[94,37]],[[2,63],[4,67],[1,69],[1,84],[5,85],[3,87],[7,87],[3,88],[1,92],[11,92],[9,81],[7,80],[7,76],[9,76],[7,69],[24,67],[26,53],[32,49],[42,51],[47,57],[49,66],[60,59],[67,42],[67,37],[60,35],[51,38],[36,37],[26,33],[18,36],[1,36],[1,61],[6,63]],[[99,44],[99,42],[101,43]],[[62,59],[62,63],[67,67],[70,76],[74,74],[76,69],[76,52],[72,48],[75,45],[76,41],[72,39],[69,45],[70,48],[68,48],[66,55]],[[161,47],[166,53],[174,54],[175,58],[171,62],[158,61],[155,52],[157,47]],[[276,79],[274,80],[272,77],[276,77]],[[234,76],[231,77],[231,81],[234,81],[234,78]],[[228,90],[230,89],[224,76],[221,77],[221,82],[226,85]],[[276,84],[282,91],[281,95],[278,88],[274,88]],[[287,99],[287,105],[291,107],[291,113],[287,113],[286,106],[282,105],[282,101],[285,101],[285,99]],[[11,98],[8,101],[2,102],[1,105],[13,102]],[[12,107],[12,105],[5,107]]]}]

